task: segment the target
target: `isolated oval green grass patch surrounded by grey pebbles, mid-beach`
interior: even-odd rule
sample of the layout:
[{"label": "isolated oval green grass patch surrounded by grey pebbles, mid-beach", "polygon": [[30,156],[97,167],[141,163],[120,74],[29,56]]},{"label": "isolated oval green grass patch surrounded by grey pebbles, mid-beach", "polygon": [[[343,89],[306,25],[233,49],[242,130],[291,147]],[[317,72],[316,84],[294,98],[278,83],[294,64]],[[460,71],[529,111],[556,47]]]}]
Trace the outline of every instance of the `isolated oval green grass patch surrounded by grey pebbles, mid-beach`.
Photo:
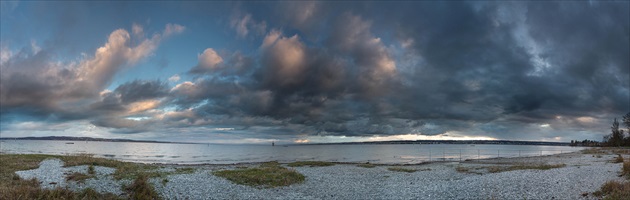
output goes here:
[{"label": "isolated oval green grass patch surrounded by grey pebbles, mid-beach", "polygon": [[305,179],[304,175],[281,167],[277,162],[263,163],[257,168],[221,170],[213,174],[237,184],[264,188],[288,186],[301,183]]}]

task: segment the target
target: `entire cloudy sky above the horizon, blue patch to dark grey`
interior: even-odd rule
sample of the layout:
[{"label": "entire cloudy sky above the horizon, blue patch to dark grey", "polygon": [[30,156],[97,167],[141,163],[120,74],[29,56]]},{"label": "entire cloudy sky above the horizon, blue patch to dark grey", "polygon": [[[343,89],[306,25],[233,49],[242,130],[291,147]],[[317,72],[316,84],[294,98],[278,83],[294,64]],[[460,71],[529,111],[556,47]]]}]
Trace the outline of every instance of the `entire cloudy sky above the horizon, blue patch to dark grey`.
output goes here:
[{"label": "entire cloudy sky above the horizon, blue patch to dark grey", "polygon": [[1,1],[0,137],[601,140],[628,1]]}]

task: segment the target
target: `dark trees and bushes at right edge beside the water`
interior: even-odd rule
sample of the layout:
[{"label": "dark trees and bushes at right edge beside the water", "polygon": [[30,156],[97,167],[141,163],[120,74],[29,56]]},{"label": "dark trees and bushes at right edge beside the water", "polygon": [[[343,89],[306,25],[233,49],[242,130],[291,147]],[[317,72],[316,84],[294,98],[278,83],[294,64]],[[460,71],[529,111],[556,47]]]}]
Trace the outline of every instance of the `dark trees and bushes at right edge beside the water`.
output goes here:
[{"label": "dark trees and bushes at right edge beside the water", "polygon": [[589,147],[630,147],[630,112],[623,116],[621,123],[626,126],[627,130],[624,133],[623,129],[619,128],[619,121],[617,118],[613,120],[611,133],[604,136],[601,142],[593,140],[571,140],[571,146],[589,146]]}]

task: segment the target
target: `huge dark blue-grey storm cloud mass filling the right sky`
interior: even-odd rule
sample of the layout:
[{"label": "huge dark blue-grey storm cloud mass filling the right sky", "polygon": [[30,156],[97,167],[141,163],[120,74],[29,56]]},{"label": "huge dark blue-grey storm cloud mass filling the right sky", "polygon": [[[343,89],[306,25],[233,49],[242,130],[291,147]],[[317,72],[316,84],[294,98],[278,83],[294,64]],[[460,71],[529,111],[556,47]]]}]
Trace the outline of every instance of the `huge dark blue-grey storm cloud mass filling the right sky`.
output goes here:
[{"label": "huge dark blue-grey storm cloud mass filling the right sky", "polygon": [[[270,31],[257,72],[239,77],[254,84],[238,95],[212,98],[204,109],[271,117],[311,134],[492,130],[496,137],[519,126],[560,123],[553,121],[558,116],[628,109],[625,3],[374,4],[289,6],[315,14],[287,11],[280,24],[318,37]],[[343,12],[322,11],[335,6]],[[378,15],[382,9],[397,12]],[[329,28],[312,28],[321,24]],[[318,41],[322,45],[309,45]],[[396,42],[410,56],[396,57]],[[404,66],[401,58],[419,61]]]}]

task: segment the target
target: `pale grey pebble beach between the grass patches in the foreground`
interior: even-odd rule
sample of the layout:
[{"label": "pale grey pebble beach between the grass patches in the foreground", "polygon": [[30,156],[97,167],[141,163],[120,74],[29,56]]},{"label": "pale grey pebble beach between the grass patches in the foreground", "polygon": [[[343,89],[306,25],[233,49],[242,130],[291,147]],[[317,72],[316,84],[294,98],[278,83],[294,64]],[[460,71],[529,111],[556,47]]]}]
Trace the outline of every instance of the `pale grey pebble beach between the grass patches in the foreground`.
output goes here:
[{"label": "pale grey pebble beach between the grass patches in the foreground", "polygon": [[[419,169],[414,173],[394,172],[391,166],[362,168],[356,164],[329,167],[295,167],[306,181],[287,187],[259,189],[237,185],[212,171],[234,169],[239,165],[197,165],[194,173],[153,178],[150,182],[165,199],[595,199],[592,193],[609,180],[620,178],[621,163],[611,163],[613,155],[594,156],[579,152],[560,155],[439,162],[400,166]],[[515,170],[488,173],[489,166],[515,164],[566,164],[549,170]],[[87,166],[62,167],[60,160],[49,159],[40,168],[16,172],[22,178],[37,178],[42,187],[68,187],[75,190],[91,187],[99,192],[122,194],[120,186],[129,180],[116,181],[114,169],[95,167],[97,176],[83,183],[66,182],[72,172],[87,173]],[[286,165],[284,165],[286,167]],[[181,166],[164,165],[162,170]],[[288,167],[292,168],[292,167]],[[458,168],[470,169],[459,172]],[[460,170],[461,171],[461,170]],[[54,184],[50,184],[54,182]]]}]

